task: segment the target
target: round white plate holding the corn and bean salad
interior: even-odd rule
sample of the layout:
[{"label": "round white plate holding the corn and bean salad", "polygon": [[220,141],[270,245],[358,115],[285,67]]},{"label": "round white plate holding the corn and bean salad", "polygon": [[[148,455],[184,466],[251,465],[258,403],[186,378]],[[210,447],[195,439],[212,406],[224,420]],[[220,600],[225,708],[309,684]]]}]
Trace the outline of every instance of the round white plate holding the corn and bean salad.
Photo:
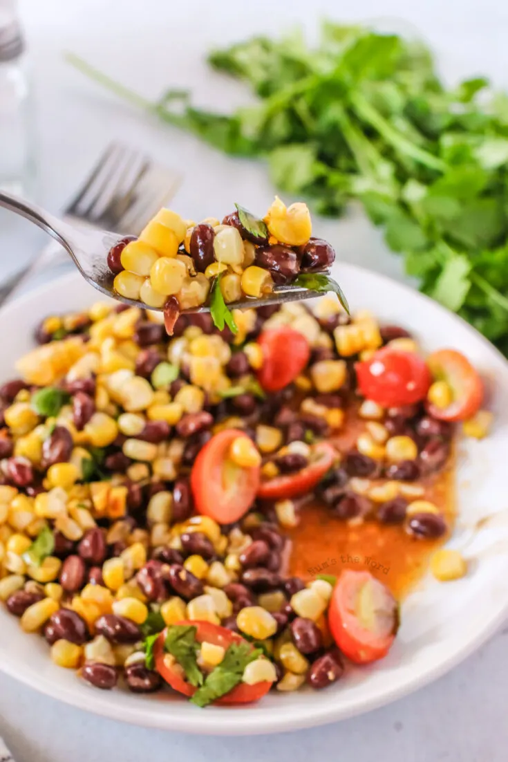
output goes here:
[{"label": "round white plate holding the corn and bean salad", "polygon": [[[125,722],[181,732],[241,735],[321,725],[366,712],[430,683],[478,648],[508,614],[508,363],[465,322],[399,283],[358,267],[337,267],[354,309],[371,309],[385,322],[406,326],[427,350],[464,351],[487,378],[494,431],[460,446],[459,519],[452,546],[467,546],[473,559],[467,578],[442,584],[427,578],[404,602],[401,629],[390,654],[369,668],[351,671],[322,691],[270,693],[254,706],[197,709],[170,696],[100,691],[73,671],[54,666],[46,643],[21,633],[18,620],[0,610],[0,668],[66,703]],[[0,312],[2,379],[32,346],[36,325],[49,312],[81,309],[97,294],[78,274],[31,293]],[[496,520],[482,524],[482,517]],[[379,562],[385,559],[381,557]],[[387,559],[389,565],[389,559]]]}]

